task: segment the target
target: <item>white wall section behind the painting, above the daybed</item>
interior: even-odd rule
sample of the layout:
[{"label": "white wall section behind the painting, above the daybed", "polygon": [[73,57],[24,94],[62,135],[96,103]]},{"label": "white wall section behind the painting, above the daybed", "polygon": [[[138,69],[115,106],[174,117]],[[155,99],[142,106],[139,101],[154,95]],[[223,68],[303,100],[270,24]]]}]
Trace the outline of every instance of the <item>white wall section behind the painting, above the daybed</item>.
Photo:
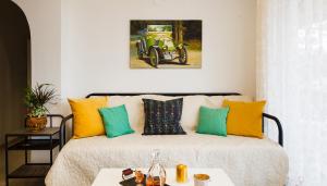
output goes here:
[{"label": "white wall section behind the painting, above the daybed", "polygon": [[[255,0],[64,0],[62,90],[255,92]],[[130,70],[129,24],[203,20],[202,70]]]}]

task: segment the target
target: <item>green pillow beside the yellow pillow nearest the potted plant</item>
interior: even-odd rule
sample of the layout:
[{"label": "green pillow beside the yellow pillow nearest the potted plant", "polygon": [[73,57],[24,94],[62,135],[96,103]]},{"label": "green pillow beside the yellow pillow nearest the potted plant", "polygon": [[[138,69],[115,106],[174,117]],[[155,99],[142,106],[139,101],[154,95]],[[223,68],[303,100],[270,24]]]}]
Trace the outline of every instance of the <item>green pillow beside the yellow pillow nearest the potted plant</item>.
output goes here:
[{"label": "green pillow beside the yellow pillow nearest the potted plant", "polygon": [[129,114],[125,106],[99,109],[107,137],[113,138],[134,133],[130,126]]}]

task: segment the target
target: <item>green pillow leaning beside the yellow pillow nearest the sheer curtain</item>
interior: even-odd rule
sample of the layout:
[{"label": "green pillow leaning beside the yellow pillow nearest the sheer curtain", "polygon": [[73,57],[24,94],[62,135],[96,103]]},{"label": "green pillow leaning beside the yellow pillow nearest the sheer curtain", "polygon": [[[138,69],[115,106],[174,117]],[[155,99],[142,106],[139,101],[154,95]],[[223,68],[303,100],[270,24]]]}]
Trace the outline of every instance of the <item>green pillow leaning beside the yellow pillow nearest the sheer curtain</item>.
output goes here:
[{"label": "green pillow leaning beside the yellow pillow nearest the sheer curtain", "polygon": [[229,109],[199,108],[196,133],[227,136],[226,120]]}]

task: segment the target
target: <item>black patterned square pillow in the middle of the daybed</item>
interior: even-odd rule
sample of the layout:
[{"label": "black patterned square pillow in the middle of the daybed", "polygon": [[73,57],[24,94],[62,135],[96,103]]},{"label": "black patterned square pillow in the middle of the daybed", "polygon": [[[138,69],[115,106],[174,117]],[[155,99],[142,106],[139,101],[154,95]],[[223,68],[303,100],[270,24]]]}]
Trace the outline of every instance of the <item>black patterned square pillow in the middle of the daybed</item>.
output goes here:
[{"label": "black patterned square pillow in the middle of the daybed", "polygon": [[180,125],[183,98],[169,101],[143,99],[144,132],[143,135],[178,135],[186,134]]}]

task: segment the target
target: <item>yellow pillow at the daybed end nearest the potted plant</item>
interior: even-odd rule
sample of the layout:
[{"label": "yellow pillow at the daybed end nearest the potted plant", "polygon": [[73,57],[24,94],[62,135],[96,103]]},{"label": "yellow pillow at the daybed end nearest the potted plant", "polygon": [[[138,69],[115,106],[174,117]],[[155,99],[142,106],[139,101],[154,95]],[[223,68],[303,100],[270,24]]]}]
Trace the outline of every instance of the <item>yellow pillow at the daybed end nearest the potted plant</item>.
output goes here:
[{"label": "yellow pillow at the daybed end nearest the potted plant", "polygon": [[90,137],[105,134],[100,108],[107,107],[108,98],[69,99],[74,114],[73,138]]}]

